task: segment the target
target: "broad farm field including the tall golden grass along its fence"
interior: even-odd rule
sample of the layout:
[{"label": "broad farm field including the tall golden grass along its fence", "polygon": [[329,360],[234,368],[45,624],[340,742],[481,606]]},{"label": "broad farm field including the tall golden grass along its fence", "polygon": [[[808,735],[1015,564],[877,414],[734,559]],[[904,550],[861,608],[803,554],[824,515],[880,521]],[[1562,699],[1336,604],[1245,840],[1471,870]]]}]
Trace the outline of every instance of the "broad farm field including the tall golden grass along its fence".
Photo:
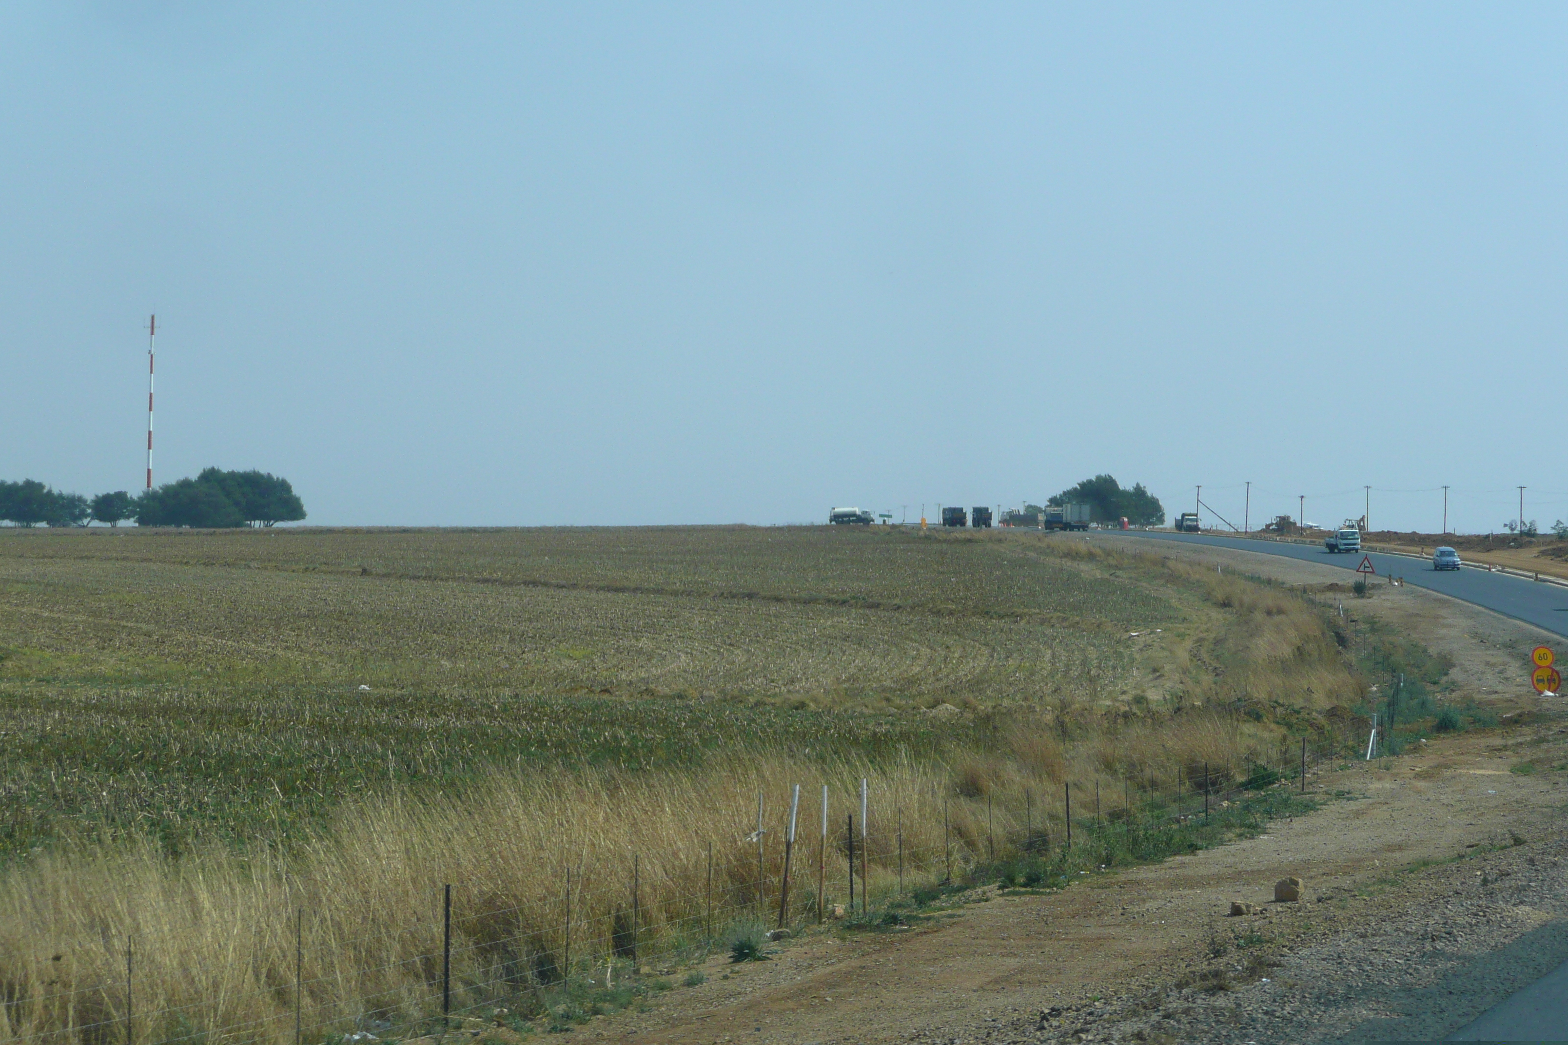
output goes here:
[{"label": "broad farm field including the tall golden grass along its fence", "polygon": [[138,1042],[287,1040],[295,1004],[314,1040],[414,1028],[442,882],[464,1003],[522,992],[528,1032],[586,956],[776,902],[793,783],[839,824],[870,780],[873,893],[997,840],[1063,871],[1068,783],[1165,808],[1338,743],[1358,641],[1276,586],[1005,531],[0,531],[0,1037],[119,1040],[127,940]]}]

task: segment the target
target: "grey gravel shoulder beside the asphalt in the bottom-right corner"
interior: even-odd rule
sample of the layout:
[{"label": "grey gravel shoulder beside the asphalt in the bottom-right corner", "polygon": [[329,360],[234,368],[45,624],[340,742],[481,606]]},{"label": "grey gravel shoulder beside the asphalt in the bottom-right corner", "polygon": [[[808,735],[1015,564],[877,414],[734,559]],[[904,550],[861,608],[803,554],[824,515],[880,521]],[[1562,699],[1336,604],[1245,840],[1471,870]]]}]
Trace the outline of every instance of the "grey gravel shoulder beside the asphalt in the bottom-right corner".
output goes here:
[{"label": "grey gravel shoulder beside the asphalt in the bottom-right corner", "polygon": [[[911,1040],[1439,1040],[1568,960],[1568,837],[1314,896],[1316,942],[1226,948],[1165,987]],[[1394,913],[1389,913],[1394,912]],[[1234,940],[1234,935],[1232,935]]]}]

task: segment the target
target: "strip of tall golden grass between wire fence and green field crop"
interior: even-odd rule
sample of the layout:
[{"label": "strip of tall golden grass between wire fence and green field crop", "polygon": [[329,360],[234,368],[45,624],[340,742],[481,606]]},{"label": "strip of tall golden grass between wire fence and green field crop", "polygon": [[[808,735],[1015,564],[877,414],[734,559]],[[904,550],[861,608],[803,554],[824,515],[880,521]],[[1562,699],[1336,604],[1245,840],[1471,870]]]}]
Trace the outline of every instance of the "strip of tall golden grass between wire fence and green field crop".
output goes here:
[{"label": "strip of tall golden grass between wire fence and green field crop", "polygon": [[828,902],[845,899],[845,816],[859,818],[862,777],[875,895],[897,888],[900,866],[909,887],[944,877],[949,854],[961,873],[991,844],[1019,838],[1025,816],[1036,833],[1060,832],[1066,780],[1085,802],[1077,813],[1091,815],[1093,785],[1104,785],[1107,810],[1120,807],[1132,766],[1159,768],[1162,786],[1189,763],[1234,776],[1272,744],[1248,725],[1189,713],[1063,741],[1032,716],[1000,724],[994,750],[952,765],[823,766],[759,752],[698,772],[497,776],[464,794],[401,791],[345,808],[287,859],[263,848],[207,846],[169,860],[146,841],[63,846],[0,887],[0,1032],[124,1040],[129,945],[136,1042],[221,1032],[282,1045],[293,1039],[296,932],[303,1021],[315,1037],[367,1018],[411,1025],[436,1006],[444,884],[453,885],[463,1007],[554,979],[568,960],[579,974],[616,954],[624,964],[633,902],[640,960],[659,962],[737,917],[776,921],[797,783],[790,924],[815,917],[818,860]]}]

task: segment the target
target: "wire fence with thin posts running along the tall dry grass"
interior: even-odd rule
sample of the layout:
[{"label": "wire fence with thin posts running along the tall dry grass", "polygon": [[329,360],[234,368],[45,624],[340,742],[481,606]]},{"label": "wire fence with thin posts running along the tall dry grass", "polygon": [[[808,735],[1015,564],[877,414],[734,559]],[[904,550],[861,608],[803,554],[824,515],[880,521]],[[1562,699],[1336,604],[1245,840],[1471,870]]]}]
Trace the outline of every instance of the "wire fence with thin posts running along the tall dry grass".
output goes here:
[{"label": "wire fence with thin posts running along the tall dry grass", "polygon": [[[331,910],[299,909],[292,924],[265,929],[274,945],[292,945],[292,968],[273,962],[254,970],[248,990],[183,1004],[158,1001],[171,992],[138,970],[138,940],[121,938],[114,948],[124,957],[121,974],[74,985],[56,979],[34,990],[0,982],[0,1040],[304,1045],[364,1042],[394,1031],[414,1037],[439,1032],[453,1020],[489,1020],[497,1009],[547,1015],[594,992],[668,985],[660,978],[674,968],[728,949],[734,940],[756,945],[767,931],[837,920],[864,924],[873,917],[897,923],[911,896],[930,899],[942,887],[997,880],[1004,865],[1027,865],[1038,885],[1060,887],[1101,865],[1181,851],[1193,832],[1215,816],[1225,821],[1247,796],[1283,788],[1305,793],[1320,763],[1367,757],[1375,744],[1364,738],[1372,735],[1372,718],[1341,716],[1328,732],[1289,739],[1247,763],[1245,774],[1187,763],[1116,782],[1066,780],[1060,793],[947,794],[939,802],[941,846],[913,844],[906,829],[914,826],[914,810],[883,808],[873,791],[851,796],[853,812],[829,821],[823,788],[809,830],[800,830],[793,810],[789,829],[778,835],[759,818],[757,833],[743,843],[756,848],[750,880],[718,873],[710,841],[698,888],[677,888],[677,868],[633,855],[624,896],[602,910],[588,909],[582,865],[568,860],[560,862],[554,896],[522,902],[495,902],[463,882],[442,882],[434,890],[439,921],[414,927],[339,935]],[[955,816],[960,802],[963,816]],[[922,808],[935,818],[938,804]],[[935,837],[935,823],[924,829],[919,833]],[[334,960],[323,962],[323,949]],[[356,964],[359,951],[395,957]]]}]

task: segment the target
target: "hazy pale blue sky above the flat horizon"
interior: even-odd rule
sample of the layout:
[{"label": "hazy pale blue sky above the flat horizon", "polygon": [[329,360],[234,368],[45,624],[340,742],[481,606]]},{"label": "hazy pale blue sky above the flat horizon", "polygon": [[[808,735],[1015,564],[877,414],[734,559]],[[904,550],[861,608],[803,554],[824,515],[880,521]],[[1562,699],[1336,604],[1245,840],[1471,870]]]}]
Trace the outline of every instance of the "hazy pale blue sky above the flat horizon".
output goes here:
[{"label": "hazy pale blue sky above the flat horizon", "polygon": [[[0,476],[1568,517],[1560,5],[0,6]],[[1229,487],[1229,489],[1223,489]],[[1212,500],[1209,497],[1212,492]],[[1338,494],[1339,497],[1330,497]],[[1237,519],[1237,522],[1240,522]]]}]

